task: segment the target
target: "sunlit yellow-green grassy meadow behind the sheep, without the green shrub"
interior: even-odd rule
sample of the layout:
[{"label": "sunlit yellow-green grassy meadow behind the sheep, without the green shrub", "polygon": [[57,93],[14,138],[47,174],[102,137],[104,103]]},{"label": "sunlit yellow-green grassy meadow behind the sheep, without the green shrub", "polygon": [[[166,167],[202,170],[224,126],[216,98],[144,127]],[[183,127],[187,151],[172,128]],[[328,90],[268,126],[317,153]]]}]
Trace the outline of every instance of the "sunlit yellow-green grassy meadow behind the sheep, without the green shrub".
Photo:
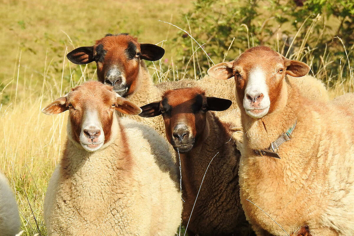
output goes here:
[{"label": "sunlit yellow-green grassy meadow behind the sheep, without the green shrub", "polygon": [[[234,50],[229,47],[225,53],[209,53],[207,45],[199,44],[192,29],[183,24],[186,13],[195,6],[182,0],[0,2],[0,170],[15,191],[23,236],[46,235],[42,204],[66,135],[67,114],[47,116],[41,109],[75,85],[96,79],[96,65],[74,65],[65,57],[68,52],[93,45],[106,33],[130,33],[139,42],[165,48],[165,56],[148,66],[155,81],[166,81],[186,77],[190,68],[193,79],[205,74],[198,68],[201,58],[197,53],[211,54],[218,63],[231,61],[243,50],[231,42]],[[312,34],[309,30],[307,37]],[[188,45],[179,41],[181,35],[186,35]],[[248,36],[246,43],[256,46]],[[313,67],[315,47],[307,46],[308,38],[303,45],[294,46],[288,57],[309,64],[312,75],[328,86],[331,98],[353,92],[353,45],[339,47],[343,56],[338,61],[325,53],[320,66]],[[335,40],[341,45],[340,39]],[[279,39],[278,47],[273,48],[281,51],[283,46]],[[180,53],[183,47],[192,48],[187,58]],[[201,50],[204,47],[206,52]],[[328,68],[333,64],[341,73],[331,73]]]}]

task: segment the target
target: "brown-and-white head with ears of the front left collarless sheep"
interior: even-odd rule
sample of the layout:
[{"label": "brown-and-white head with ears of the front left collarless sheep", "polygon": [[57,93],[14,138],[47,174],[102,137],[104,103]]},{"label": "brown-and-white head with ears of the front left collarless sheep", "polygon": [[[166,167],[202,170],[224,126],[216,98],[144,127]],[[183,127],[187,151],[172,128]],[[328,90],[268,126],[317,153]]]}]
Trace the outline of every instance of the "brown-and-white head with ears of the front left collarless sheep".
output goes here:
[{"label": "brown-and-white head with ears of the front left collarless sheep", "polygon": [[128,115],[141,112],[135,104],[113,92],[112,86],[95,81],[76,86],[42,112],[53,115],[65,110],[69,110],[69,140],[80,144],[86,151],[96,151],[113,142],[118,129],[115,110]]}]

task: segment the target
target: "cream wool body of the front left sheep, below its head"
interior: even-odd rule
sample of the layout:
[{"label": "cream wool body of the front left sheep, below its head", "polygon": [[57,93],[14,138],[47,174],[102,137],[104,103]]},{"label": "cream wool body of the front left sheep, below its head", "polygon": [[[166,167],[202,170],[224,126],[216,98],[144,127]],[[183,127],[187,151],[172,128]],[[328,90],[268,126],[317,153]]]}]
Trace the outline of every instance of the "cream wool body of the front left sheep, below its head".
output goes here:
[{"label": "cream wool body of the front left sheep, below its head", "polygon": [[180,194],[165,140],[128,118],[119,132],[126,140],[95,152],[66,142],[44,202],[48,235],[175,234]]}]

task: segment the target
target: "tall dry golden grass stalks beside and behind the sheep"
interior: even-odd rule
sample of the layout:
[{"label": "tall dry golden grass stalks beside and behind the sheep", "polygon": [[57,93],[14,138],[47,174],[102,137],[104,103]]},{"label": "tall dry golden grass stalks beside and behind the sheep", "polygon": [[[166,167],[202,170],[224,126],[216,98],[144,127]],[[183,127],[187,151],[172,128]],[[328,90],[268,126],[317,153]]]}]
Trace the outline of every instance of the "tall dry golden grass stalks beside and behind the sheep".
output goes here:
[{"label": "tall dry golden grass stalks beside and behind the sheep", "polygon": [[[192,36],[193,32],[190,32],[190,35]],[[280,40],[278,43],[278,51],[281,51],[284,44]],[[171,64],[167,69],[162,66],[164,59],[150,64],[150,72],[155,81],[178,80],[185,76],[188,64],[198,61],[198,58],[193,57],[194,53],[201,50],[197,39],[191,40],[191,44],[194,52],[183,65],[173,64],[173,57],[169,58]],[[255,46],[252,45],[251,38],[249,45]],[[343,48],[343,50],[349,55],[353,48]],[[11,187],[15,189],[23,223],[23,236],[46,235],[42,217],[44,193],[60,158],[66,136],[67,115],[63,113],[47,116],[41,113],[41,109],[68,92],[71,87],[86,80],[96,79],[95,70],[89,66],[70,64],[64,56],[67,51],[66,48],[63,52],[62,63],[58,65],[62,69],[61,74],[53,71],[55,68],[52,66],[51,60],[46,58],[42,62],[43,72],[32,73],[30,76],[26,73],[26,68],[21,67],[21,56],[24,52],[20,51],[13,70],[14,76],[8,81],[1,82],[2,87],[12,87],[12,90],[8,95],[10,102],[0,105],[0,132],[2,134],[0,137],[0,168],[8,177]],[[311,52],[311,48],[303,46],[288,57],[307,62],[312,68],[314,58]],[[221,55],[220,60],[215,63],[223,61],[226,56],[226,54]],[[352,58],[347,56],[347,58],[343,58],[341,64],[338,64],[338,67],[342,68],[341,71],[349,71],[346,73],[347,77],[338,75],[339,79],[328,74],[326,67],[333,62],[326,57],[326,54],[321,60],[322,66],[318,71],[313,71],[313,74],[328,84],[333,82],[330,81],[331,79],[336,79],[333,82],[335,85],[329,90],[330,96],[336,97],[345,92],[353,92]],[[80,68],[79,73],[77,72],[78,68]],[[171,74],[173,76],[170,76]],[[65,79],[65,77],[69,79]],[[0,100],[1,96],[4,96],[3,91],[0,92]],[[181,234],[183,235],[183,232]]]}]

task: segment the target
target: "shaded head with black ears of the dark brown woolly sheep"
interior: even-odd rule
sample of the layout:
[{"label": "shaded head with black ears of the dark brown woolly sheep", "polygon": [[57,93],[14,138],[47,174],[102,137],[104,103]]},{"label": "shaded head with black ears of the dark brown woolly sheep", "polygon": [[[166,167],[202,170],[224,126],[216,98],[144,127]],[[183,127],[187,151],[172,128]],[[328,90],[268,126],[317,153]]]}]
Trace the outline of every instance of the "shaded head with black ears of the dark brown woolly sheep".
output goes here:
[{"label": "shaded head with black ears of the dark brown woolly sheep", "polygon": [[173,148],[187,153],[209,136],[207,111],[222,111],[230,107],[228,99],[206,97],[198,87],[168,90],[159,102],[141,107],[142,117],[162,115],[166,137]]}]

